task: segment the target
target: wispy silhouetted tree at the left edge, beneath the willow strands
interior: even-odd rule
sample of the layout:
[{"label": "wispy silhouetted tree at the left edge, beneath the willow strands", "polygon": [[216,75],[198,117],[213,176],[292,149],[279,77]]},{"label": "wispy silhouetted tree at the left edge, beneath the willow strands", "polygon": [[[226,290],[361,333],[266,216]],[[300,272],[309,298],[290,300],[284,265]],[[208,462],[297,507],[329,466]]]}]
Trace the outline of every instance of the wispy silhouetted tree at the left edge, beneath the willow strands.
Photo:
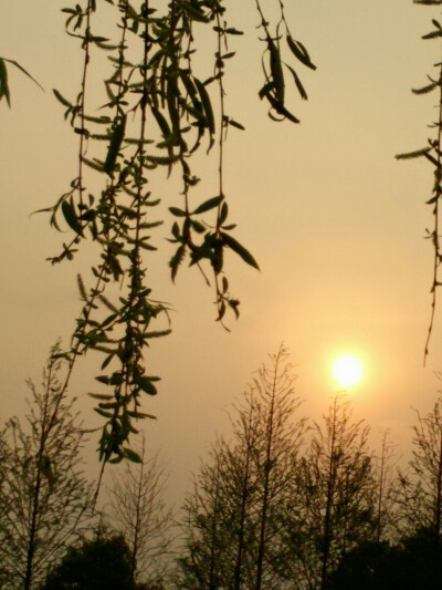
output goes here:
[{"label": "wispy silhouetted tree at the left edge, beneath the willow strands", "polygon": [[73,414],[75,400],[66,402],[61,392],[57,351],[51,351],[41,390],[28,382],[32,397],[24,425],[18,418],[6,425],[0,503],[6,506],[0,513],[4,588],[34,587],[91,519],[91,489],[80,467],[84,434]]}]

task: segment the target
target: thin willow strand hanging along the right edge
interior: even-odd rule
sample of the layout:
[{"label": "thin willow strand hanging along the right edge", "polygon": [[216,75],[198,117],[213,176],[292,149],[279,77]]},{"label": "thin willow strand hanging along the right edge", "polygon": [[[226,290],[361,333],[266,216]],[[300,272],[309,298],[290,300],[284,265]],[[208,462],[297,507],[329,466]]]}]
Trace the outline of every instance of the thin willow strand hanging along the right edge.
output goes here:
[{"label": "thin willow strand hanging along the right edge", "polygon": [[[414,0],[417,4],[434,6],[442,4],[442,0]],[[424,34],[422,39],[439,39],[442,38],[442,24],[433,19],[432,20],[434,29],[430,33]],[[428,330],[428,337],[425,341],[424,354],[423,354],[423,364],[425,364],[427,355],[429,353],[429,344],[431,340],[431,334],[434,325],[434,314],[435,314],[435,304],[436,304],[436,290],[442,286],[442,280],[440,278],[440,266],[442,262],[442,247],[441,247],[441,236],[439,235],[440,226],[440,199],[442,196],[442,61],[434,65],[436,69],[436,75],[428,75],[429,84],[420,89],[413,89],[413,94],[422,95],[429,94],[432,92],[438,93],[438,118],[433,122],[430,127],[435,130],[435,136],[428,138],[428,147],[418,149],[415,152],[409,152],[407,154],[399,154],[396,157],[398,159],[411,159],[417,157],[424,157],[433,167],[434,182],[432,188],[432,196],[427,201],[428,205],[432,207],[433,214],[433,227],[432,229],[427,229],[427,238],[431,240],[434,259],[433,259],[433,280],[431,286],[432,301],[431,301],[431,317],[430,325]]]}]

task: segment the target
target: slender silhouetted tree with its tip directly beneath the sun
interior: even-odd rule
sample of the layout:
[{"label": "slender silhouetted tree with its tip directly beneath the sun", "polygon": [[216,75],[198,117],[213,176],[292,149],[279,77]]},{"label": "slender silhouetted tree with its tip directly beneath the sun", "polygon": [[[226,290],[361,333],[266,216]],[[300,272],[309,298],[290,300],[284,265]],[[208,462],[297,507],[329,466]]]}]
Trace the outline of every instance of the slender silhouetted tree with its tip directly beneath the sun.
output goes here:
[{"label": "slender silhouetted tree with its tip directly beneath the sun", "polygon": [[302,462],[306,544],[305,568],[311,588],[325,588],[340,557],[373,530],[373,474],[368,426],[352,422],[349,403],[336,395],[315,423]]}]

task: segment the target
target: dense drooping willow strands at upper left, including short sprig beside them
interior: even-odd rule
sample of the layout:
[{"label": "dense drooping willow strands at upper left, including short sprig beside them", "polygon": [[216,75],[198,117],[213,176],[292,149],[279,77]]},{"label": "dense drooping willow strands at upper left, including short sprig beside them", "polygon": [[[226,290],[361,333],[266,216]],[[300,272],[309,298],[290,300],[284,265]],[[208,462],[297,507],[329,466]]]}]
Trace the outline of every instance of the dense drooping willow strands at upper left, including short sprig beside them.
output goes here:
[{"label": "dense drooping willow strands at upper left, including short sprig beside them", "polygon": [[[306,93],[287,59],[315,66],[304,45],[292,38],[281,0],[275,0],[281,17],[273,28],[255,1],[265,43],[265,81],[259,94],[267,101],[272,118],[297,123],[287,106],[284,72],[291,73],[302,99]],[[243,130],[225,114],[225,64],[235,54],[228,41],[242,32],[228,25],[224,4],[222,0],[167,4],[143,0],[136,8],[128,0],[85,0],[83,7],[63,9],[66,32],[81,42],[83,74],[76,100],[54,93],[78,135],[78,174],[57,203],[44,210],[51,213],[56,229],[67,227],[71,232],[61,252],[51,258],[53,263],[71,260],[87,241],[99,252],[87,281],[78,277],[83,307],[63,356],[69,363],[65,391],[80,355],[87,351],[104,355],[96,380],[108,391],[92,394],[105,421],[99,443],[103,462],[139,460],[127,442],[137,432],[138,418],[154,417],[140,412],[140,397],[155,395],[158,381],[147,372],[145,354],[152,339],[170,332],[168,307],[152,299],[147,272],[147,260],[157,249],[154,231],[162,224],[154,216],[159,199],[149,190],[149,178],[161,170],[181,172],[182,206],[169,207],[173,219],[169,241],[175,245],[171,278],[176,279],[186,259],[199,268],[214,288],[217,320],[223,325],[229,310],[239,315],[239,300],[230,294],[225,276],[225,251],[257,268],[233,237],[235,225],[229,219],[223,188],[227,133]],[[95,32],[104,22],[101,10],[114,13],[118,39]],[[196,39],[203,31],[214,33],[215,40],[213,74],[208,79],[194,70],[192,60]],[[110,66],[104,81],[94,62],[102,52]],[[97,76],[107,95],[98,114],[90,112],[91,86]],[[218,195],[196,204],[192,188],[200,179],[193,172],[194,155],[201,148],[210,152],[217,139]],[[97,185],[101,189],[90,188]]]}]

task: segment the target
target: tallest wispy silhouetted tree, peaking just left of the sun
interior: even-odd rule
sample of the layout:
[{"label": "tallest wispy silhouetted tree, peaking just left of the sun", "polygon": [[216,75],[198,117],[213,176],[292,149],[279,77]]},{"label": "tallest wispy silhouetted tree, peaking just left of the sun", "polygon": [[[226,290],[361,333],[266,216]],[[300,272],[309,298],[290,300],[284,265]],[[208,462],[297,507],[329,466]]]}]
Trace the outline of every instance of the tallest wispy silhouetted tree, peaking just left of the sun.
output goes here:
[{"label": "tallest wispy silhouetted tree, peaking just left of the sun", "polygon": [[[282,521],[306,432],[281,348],[236,406],[233,439],[220,439],[185,505],[183,588],[282,588]],[[213,575],[213,576],[212,576]],[[192,586],[193,583],[193,586]]]}]

